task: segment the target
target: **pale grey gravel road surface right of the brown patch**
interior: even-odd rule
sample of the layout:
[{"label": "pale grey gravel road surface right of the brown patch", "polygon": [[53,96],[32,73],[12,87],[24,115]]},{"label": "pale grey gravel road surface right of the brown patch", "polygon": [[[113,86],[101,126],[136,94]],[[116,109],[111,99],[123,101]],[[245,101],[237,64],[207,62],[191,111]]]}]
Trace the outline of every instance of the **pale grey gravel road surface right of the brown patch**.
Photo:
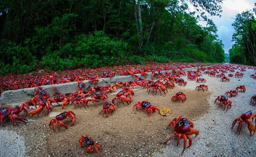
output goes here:
[{"label": "pale grey gravel road surface right of the brown patch", "polygon": [[[185,149],[183,155],[186,157],[256,157],[256,135],[250,137],[247,124],[243,123],[240,135],[237,132],[237,125],[232,129],[233,121],[240,117],[242,113],[249,110],[256,114],[256,106],[249,104],[252,95],[256,94],[256,80],[250,78],[255,71],[246,69],[243,71],[243,78],[236,78],[235,75],[230,78],[230,82],[221,82],[221,78],[203,75],[207,80],[205,85],[209,91],[213,92],[208,98],[210,102],[209,113],[199,119],[193,120],[194,128],[200,130],[197,137],[191,135],[192,146]],[[238,71],[238,70],[236,70]],[[230,74],[230,73],[228,73]],[[234,74],[234,73],[233,73]],[[226,74],[227,75],[227,74]],[[229,90],[235,90],[237,86],[245,85],[246,92],[239,90],[236,97],[231,97],[232,107],[223,111],[223,106],[218,108],[214,104],[219,95],[224,95]],[[194,89],[195,85],[188,83],[188,89]],[[217,103],[218,104],[218,103]],[[253,122],[255,125],[255,122]],[[171,136],[171,133],[167,139]],[[176,140],[168,142],[168,146],[162,149],[163,153],[155,153],[155,157],[179,157],[181,156],[183,139],[179,146],[176,146]]]}]

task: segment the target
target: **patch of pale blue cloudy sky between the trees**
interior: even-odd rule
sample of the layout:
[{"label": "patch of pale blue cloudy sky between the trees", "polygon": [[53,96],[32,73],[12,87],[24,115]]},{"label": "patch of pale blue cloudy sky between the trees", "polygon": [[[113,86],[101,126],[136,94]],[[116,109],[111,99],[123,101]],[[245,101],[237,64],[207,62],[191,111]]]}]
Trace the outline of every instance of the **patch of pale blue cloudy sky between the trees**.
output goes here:
[{"label": "patch of pale blue cloudy sky between the trees", "polygon": [[[229,53],[229,49],[232,48],[232,35],[234,29],[232,23],[235,21],[236,14],[242,13],[246,10],[252,10],[256,0],[223,0],[222,6],[222,17],[209,17],[212,19],[217,26],[219,39],[224,44],[225,53]],[[206,23],[199,22],[200,25],[205,26]]]}]

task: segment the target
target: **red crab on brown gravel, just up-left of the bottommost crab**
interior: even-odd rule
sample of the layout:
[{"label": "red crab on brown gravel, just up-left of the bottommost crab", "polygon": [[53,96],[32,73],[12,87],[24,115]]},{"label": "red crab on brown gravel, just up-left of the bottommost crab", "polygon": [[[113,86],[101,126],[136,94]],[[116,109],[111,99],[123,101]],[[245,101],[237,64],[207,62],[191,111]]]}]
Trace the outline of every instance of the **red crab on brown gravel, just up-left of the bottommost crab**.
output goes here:
[{"label": "red crab on brown gravel, just up-left of the bottommost crab", "polygon": [[[61,114],[56,115],[55,119],[51,119],[50,123],[49,123],[49,127],[54,130],[54,124],[56,124],[57,128],[60,130],[60,126],[58,125],[60,123],[61,126],[65,127],[67,129],[67,125],[65,125],[61,121],[61,120],[67,119],[67,118],[71,118],[72,119],[71,126],[73,126],[74,120],[75,120],[75,113],[72,112],[72,111],[67,111],[67,112],[65,111],[65,112],[63,112]],[[55,130],[54,130],[54,132],[55,132]]]}]

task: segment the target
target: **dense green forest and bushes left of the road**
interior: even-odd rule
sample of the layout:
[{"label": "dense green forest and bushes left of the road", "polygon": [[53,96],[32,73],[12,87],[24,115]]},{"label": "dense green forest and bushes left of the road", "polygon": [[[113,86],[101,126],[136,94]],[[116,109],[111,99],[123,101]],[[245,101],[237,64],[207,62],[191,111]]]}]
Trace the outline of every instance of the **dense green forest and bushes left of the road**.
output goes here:
[{"label": "dense green forest and bushes left of the road", "polygon": [[[187,12],[187,2],[195,12]],[[221,2],[1,0],[0,74],[145,61],[222,63],[222,41],[205,16],[220,16]]]}]

